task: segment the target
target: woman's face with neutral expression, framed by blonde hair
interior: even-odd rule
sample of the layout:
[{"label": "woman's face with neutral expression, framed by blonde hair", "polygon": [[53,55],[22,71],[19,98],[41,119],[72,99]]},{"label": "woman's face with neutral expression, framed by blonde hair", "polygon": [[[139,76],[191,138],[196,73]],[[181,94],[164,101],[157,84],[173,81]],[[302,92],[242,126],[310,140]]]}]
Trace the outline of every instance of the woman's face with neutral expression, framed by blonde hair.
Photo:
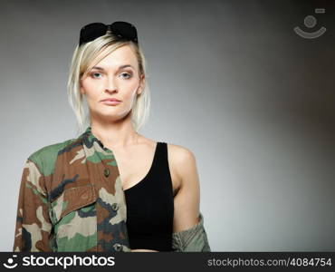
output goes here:
[{"label": "woman's face with neutral expression, framed by blonde hair", "polygon": [[[127,116],[144,80],[144,75],[139,77],[139,63],[129,45],[107,55],[81,79],[81,93],[86,95],[91,118],[117,121]],[[102,102],[110,98],[120,102]]]}]

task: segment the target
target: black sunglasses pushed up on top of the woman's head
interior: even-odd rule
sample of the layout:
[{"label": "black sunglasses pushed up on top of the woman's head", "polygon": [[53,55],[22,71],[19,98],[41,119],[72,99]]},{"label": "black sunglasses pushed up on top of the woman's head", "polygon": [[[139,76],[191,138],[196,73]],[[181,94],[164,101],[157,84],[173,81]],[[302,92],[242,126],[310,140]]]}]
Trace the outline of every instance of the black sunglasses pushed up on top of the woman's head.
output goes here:
[{"label": "black sunglasses pushed up on top of the woman's head", "polygon": [[107,31],[109,30],[111,31],[111,34],[118,36],[120,39],[133,41],[136,44],[139,44],[136,27],[133,24],[118,21],[112,24],[91,23],[82,26],[79,46],[81,46],[81,44],[91,42],[104,34],[107,34]]}]

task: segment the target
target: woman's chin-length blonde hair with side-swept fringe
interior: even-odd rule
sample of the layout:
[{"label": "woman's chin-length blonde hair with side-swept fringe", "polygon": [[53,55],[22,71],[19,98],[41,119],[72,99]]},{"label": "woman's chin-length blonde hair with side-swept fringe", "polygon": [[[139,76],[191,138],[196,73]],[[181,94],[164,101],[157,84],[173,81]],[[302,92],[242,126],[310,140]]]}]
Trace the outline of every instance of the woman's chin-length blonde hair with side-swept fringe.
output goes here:
[{"label": "woman's chin-length blonde hair with side-swept fringe", "polygon": [[[80,92],[80,81],[94,66],[93,62],[99,63],[105,56],[112,53],[119,47],[128,44],[135,53],[139,63],[139,75],[146,76],[146,60],[144,54],[140,50],[138,44],[132,41],[120,41],[112,34],[105,34],[89,43],[77,45],[72,55],[72,62],[70,65],[70,74],[67,83],[68,99],[72,110],[78,122],[78,133],[81,134],[85,128],[91,125],[90,112],[86,99]],[[105,50],[106,49],[106,50]],[[99,58],[97,56],[101,54]],[[93,64],[92,64],[93,63]],[[148,112],[150,108],[150,93],[148,82],[145,81],[144,89],[136,96],[136,101],[133,109],[131,110],[131,122],[135,131],[148,121]]]}]

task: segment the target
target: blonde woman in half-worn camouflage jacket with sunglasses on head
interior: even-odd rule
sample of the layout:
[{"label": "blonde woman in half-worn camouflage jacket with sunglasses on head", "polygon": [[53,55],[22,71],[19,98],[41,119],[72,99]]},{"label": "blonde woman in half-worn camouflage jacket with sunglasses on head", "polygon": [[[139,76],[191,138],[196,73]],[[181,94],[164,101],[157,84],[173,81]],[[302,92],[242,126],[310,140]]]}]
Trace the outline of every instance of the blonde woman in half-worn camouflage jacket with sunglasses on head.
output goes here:
[{"label": "blonde woman in half-worn camouflage jacket with sunglasses on head", "polygon": [[68,89],[89,125],[26,160],[14,251],[210,251],[194,155],[138,132],[149,93],[135,26],[82,27]]}]

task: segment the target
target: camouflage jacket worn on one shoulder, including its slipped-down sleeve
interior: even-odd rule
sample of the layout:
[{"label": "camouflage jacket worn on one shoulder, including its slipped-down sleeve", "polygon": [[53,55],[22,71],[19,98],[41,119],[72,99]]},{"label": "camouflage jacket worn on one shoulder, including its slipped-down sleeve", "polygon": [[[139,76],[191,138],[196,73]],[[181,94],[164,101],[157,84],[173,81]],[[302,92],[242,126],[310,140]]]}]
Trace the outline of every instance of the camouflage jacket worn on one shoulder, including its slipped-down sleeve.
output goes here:
[{"label": "camouflage jacket worn on one shoulder, including its slipped-down sleeve", "polygon": [[[130,251],[127,206],[112,151],[91,127],[25,161],[13,251]],[[203,215],[172,234],[174,251],[210,251]]]}]

